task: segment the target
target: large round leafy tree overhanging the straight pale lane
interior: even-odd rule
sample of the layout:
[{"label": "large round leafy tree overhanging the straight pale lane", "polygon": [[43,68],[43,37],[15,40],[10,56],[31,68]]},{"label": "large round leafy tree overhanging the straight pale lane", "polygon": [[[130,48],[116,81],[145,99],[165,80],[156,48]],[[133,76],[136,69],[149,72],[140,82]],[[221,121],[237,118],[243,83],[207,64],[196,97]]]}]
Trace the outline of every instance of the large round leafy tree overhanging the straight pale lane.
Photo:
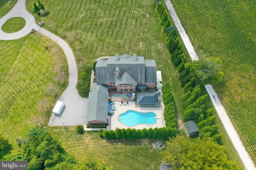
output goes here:
[{"label": "large round leafy tree overhanging the straight pale lane", "polygon": [[199,56],[199,60],[193,63],[193,66],[196,78],[204,85],[218,83],[224,75],[219,58],[207,57],[202,54]]}]

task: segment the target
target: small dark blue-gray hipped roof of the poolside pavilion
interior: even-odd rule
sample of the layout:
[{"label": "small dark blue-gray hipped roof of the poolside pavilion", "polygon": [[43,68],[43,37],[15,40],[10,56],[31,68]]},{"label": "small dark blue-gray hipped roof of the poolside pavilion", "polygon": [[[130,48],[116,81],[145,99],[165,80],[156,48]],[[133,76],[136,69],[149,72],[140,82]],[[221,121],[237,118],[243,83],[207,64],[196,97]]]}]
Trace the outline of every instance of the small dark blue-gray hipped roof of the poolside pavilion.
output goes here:
[{"label": "small dark blue-gray hipped roof of the poolside pavilion", "polygon": [[157,93],[137,93],[138,104],[158,104]]}]

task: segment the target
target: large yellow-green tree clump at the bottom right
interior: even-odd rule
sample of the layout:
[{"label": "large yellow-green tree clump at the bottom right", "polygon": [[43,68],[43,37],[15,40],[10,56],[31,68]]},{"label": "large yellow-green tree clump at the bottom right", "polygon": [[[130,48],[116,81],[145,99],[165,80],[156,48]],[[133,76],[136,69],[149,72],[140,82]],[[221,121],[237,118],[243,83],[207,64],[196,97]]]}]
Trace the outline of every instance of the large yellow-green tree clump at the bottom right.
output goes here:
[{"label": "large yellow-green tree clump at the bottom right", "polygon": [[192,143],[178,135],[166,141],[166,150],[162,152],[162,156],[175,170],[242,170],[237,162],[228,160],[225,152],[226,148],[218,145],[212,138],[205,137]]}]

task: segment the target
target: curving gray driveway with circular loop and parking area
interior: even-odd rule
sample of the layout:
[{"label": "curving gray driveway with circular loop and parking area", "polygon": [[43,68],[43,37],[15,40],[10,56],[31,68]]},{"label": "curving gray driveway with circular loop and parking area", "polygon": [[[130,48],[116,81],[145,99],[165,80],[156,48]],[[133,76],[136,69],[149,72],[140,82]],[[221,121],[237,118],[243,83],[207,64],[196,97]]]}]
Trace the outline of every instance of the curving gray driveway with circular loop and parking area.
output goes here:
[{"label": "curving gray driveway with circular loop and parking area", "polygon": [[24,37],[31,31],[32,27],[46,37],[49,37],[53,41],[55,41],[60,47],[63,49],[67,61],[68,61],[68,68],[69,68],[69,82],[68,87],[62,93],[58,100],[64,102],[66,108],[64,109],[63,113],[60,116],[55,116],[52,113],[52,116],[49,121],[49,125],[54,126],[62,126],[67,125],[84,125],[86,124],[86,113],[87,113],[87,106],[88,106],[88,98],[82,98],[78,94],[76,90],[76,84],[78,80],[78,71],[76,66],[76,60],[73,54],[72,49],[69,47],[68,43],[66,43],[60,37],[54,35],[53,33],[39,27],[36,24],[34,17],[27,12],[26,0],[18,0],[17,4],[6,14],[4,17],[0,19],[0,27],[10,18],[13,17],[22,17],[26,20],[25,27],[16,32],[16,33],[4,33],[0,29],[0,39],[1,40],[12,40],[12,39],[19,39]]}]

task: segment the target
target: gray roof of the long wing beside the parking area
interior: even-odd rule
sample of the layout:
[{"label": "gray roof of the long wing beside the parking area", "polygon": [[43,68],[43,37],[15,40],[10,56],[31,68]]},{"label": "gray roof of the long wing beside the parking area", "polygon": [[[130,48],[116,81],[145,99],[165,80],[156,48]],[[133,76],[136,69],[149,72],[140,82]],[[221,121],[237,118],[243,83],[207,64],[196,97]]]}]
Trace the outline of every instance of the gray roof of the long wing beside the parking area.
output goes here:
[{"label": "gray roof of the long wing beside the parking area", "polygon": [[86,121],[104,121],[108,117],[108,86],[94,84],[92,92],[89,93],[88,110]]}]

